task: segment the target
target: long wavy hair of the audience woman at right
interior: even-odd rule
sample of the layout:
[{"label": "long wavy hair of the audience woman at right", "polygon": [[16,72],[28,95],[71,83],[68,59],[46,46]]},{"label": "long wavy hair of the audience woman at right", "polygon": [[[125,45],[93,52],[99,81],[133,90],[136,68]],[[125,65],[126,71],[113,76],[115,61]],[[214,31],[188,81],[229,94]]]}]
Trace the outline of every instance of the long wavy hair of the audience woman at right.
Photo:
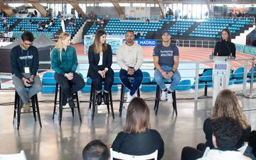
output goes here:
[{"label": "long wavy hair of the audience woman at right", "polygon": [[245,115],[242,113],[242,106],[238,103],[238,98],[235,96],[235,93],[229,89],[218,93],[213,108],[213,114],[210,116],[210,119],[213,120],[220,117],[239,120],[243,129],[250,126],[250,122],[248,122]]}]

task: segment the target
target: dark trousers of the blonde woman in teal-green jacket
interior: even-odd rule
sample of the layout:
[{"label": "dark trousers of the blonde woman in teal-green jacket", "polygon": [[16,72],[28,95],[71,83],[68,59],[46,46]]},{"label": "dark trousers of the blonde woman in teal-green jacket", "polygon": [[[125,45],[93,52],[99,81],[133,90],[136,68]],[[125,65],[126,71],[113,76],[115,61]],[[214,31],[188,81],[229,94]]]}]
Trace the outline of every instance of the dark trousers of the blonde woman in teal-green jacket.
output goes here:
[{"label": "dark trousers of the blonde woman in teal-green jacket", "polygon": [[[80,91],[85,86],[85,81],[79,74],[74,73],[73,75],[73,79],[69,81],[63,74],[54,74],[55,80],[60,84],[63,93],[68,98],[71,98],[73,93]],[[71,87],[69,85],[70,82],[73,84]]]}]

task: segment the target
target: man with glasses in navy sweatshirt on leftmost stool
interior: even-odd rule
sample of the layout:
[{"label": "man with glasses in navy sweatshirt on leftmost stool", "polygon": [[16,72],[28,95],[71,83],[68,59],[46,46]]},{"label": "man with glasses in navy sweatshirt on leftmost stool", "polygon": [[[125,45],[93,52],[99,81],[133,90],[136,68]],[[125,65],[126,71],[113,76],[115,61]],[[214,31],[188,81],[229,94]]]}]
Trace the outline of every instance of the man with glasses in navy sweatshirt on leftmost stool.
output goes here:
[{"label": "man with glasses in navy sweatshirt on leftmost stool", "polygon": [[[29,98],[41,91],[42,83],[37,75],[38,50],[32,45],[33,34],[29,31],[21,35],[21,44],[11,50],[11,74],[14,87],[24,104],[24,111],[29,111]],[[29,87],[26,91],[26,87]]]}]

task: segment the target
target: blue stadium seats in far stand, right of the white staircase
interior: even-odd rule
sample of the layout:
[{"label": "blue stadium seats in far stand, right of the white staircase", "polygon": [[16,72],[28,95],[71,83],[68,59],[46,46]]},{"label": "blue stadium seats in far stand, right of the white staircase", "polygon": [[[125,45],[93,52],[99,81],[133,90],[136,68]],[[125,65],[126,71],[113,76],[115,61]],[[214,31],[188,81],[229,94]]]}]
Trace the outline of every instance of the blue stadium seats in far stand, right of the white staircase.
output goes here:
[{"label": "blue stadium seats in far stand, right of the white staircase", "polygon": [[[124,35],[126,30],[134,30],[139,33],[146,33],[149,31],[157,32],[161,30],[161,27],[164,24],[169,24],[171,21],[174,21],[173,18],[161,19],[160,21],[150,21],[146,24],[142,21],[120,21],[118,18],[110,19],[109,23],[105,27],[105,30],[108,34],[118,34]],[[195,23],[195,19],[192,20],[179,20],[174,21],[174,25],[169,28],[169,31],[172,35],[184,35],[189,28]],[[246,19],[231,19],[231,18],[208,18],[206,21],[202,21],[190,34],[192,37],[206,37],[206,38],[219,38],[219,32],[223,28],[229,28],[231,33],[236,33],[241,28],[245,27],[244,24],[240,23],[251,23],[252,20]],[[94,34],[97,31],[98,27],[92,26],[90,30],[86,33],[87,35]],[[118,31],[117,31],[118,30]],[[143,37],[146,38],[146,35],[143,34]]]}]

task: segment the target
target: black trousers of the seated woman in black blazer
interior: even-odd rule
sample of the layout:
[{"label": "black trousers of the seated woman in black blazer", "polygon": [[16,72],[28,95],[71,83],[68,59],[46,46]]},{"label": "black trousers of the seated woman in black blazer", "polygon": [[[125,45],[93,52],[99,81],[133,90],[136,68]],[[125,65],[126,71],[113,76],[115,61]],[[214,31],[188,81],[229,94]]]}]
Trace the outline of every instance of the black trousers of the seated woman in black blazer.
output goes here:
[{"label": "black trousers of the seated woman in black blazer", "polygon": [[114,82],[114,72],[112,69],[109,69],[105,74],[105,79],[102,79],[102,76],[98,72],[92,71],[90,73],[90,79],[93,81],[96,91],[102,91],[102,81],[105,81],[104,90],[110,91]]}]

